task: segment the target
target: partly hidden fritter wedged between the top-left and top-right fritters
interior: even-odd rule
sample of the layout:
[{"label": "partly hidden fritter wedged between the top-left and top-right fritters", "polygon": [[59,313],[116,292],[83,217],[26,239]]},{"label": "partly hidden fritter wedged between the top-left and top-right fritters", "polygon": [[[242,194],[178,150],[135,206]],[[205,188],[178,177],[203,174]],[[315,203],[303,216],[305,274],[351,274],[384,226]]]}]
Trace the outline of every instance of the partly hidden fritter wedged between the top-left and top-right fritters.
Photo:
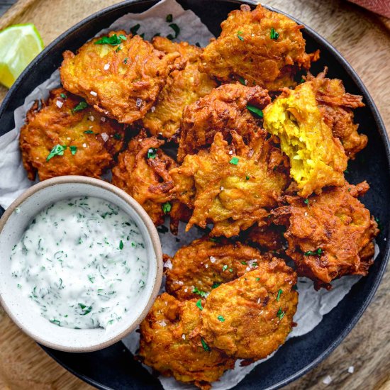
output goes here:
[{"label": "partly hidden fritter wedged between the top-left and top-right fritters", "polygon": [[179,52],[180,60],[186,61],[183,70],[174,70],[169,74],[157,101],[143,118],[143,126],[152,135],[172,138],[179,131],[183,108],[209,94],[217,84],[208,74],[199,72],[201,48],[187,42],[174,43],[163,37],[153,38],[152,45],[165,54]]}]

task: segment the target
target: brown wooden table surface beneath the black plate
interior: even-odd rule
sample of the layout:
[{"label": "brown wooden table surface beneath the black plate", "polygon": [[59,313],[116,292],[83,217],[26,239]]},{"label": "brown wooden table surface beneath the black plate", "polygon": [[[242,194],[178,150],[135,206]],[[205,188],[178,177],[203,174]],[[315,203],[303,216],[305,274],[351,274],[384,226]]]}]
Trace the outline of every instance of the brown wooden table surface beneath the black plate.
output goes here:
[{"label": "brown wooden table surface beneath the black plate", "polygon": [[[212,1],[212,0],[210,0]],[[0,0],[0,16],[15,0]],[[33,22],[47,45],[64,30],[118,0],[19,0],[0,18],[0,29]],[[390,21],[342,0],[269,0],[330,41],[362,77],[390,129]],[[50,4],[50,7],[48,6]],[[74,5],[77,4],[77,7]],[[50,11],[49,11],[50,9]],[[6,89],[0,87],[0,101]],[[390,390],[390,276],[342,344],[311,372],[286,386],[301,389]],[[91,389],[21,333],[0,308],[0,390]],[[347,372],[353,366],[355,372]],[[328,385],[323,379],[330,375]]]}]

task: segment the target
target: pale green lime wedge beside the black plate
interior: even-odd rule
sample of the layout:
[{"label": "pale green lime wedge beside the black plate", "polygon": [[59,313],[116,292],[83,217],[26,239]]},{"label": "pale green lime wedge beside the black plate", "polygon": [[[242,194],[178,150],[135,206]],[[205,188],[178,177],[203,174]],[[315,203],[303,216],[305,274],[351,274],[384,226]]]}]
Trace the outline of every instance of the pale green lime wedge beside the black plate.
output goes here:
[{"label": "pale green lime wedge beside the black plate", "polygon": [[0,83],[11,87],[43,50],[43,40],[31,24],[16,24],[0,32]]}]

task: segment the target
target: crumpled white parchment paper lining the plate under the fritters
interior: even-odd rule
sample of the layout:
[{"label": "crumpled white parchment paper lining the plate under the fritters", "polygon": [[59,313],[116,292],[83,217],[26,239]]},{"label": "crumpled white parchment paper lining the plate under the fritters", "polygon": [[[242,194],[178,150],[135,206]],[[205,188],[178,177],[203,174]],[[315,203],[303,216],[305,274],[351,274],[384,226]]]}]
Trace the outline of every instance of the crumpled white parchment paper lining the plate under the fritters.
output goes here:
[{"label": "crumpled white parchment paper lining the plate under the fritters", "polygon": [[[118,18],[109,28],[102,30],[97,35],[109,30],[122,29],[129,31],[131,27],[138,23],[140,24],[138,34],[145,33],[145,39],[147,40],[150,40],[155,33],[160,33],[162,36],[174,34],[172,28],[169,27],[169,23],[165,20],[169,13],[172,13],[173,23],[176,23],[180,28],[177,40],[186,40],[193,45],[199,43],[201,46],[206,46],[210,38],[213,37],[206,26],[201,23],[198,16],[192,11],[184,11],[182,6],[174,0],[162,0],[144,13],[128,13]],[[0,205],[4,208],[8,207],[23,191],[34,184],[28,180],[26,171],[23,169],[18,147],[19,131],[24,124],[26,113],[35,100],[47,99],[50,89],[59,85],[60,74],[56,70],[47,81],[40,84],[26,97],[23,106],[16,109],[14,113],[15,128],[0,137]],[[189,233],[184,233],[184,225],[181,223],[177,237],[169,232],[160,233],[162,250],[168,255],[174,255],[179,247],[201,237],[201,234],[196,228],[192,228]],[[299,304],[294,316],[294,321],[298,323],[298,326],[294,328],[289,338],[304,335],[313,330],[321,322],[323,316],[338,305],[359,279],[360,277],[343,277],[333,283],[332,291],[314,291],[313,282],[306,278],[300,278],[298,282]],[[138,333],[132,333],[123,340],[123,343],[134,353],[138,350]],[[240,367],[240,362],[237,362],[235,369],[225,372],[221,380],[213,384],[213,389],[225,390],[232,388],[261,362],[255,362],[247,367]],[[181,384],[172,378],[159,377],[159,379],[162,386],[167,390],[194,389],[194,386]]]}]

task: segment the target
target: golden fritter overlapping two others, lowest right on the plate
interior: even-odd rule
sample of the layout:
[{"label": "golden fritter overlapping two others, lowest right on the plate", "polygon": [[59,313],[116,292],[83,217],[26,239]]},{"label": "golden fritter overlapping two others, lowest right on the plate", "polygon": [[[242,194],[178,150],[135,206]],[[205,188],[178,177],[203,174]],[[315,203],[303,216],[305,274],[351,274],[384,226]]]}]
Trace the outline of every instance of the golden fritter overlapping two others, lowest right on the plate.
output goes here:
[{"label": "golden fritter overlapping two others, lowest right on the plate", "polygon": [[200,335],[247,363],[264,359],[286,341],[298,303],[296,273],[283,260],[259,262],[258,268],[221,284],[201,311]]}]

